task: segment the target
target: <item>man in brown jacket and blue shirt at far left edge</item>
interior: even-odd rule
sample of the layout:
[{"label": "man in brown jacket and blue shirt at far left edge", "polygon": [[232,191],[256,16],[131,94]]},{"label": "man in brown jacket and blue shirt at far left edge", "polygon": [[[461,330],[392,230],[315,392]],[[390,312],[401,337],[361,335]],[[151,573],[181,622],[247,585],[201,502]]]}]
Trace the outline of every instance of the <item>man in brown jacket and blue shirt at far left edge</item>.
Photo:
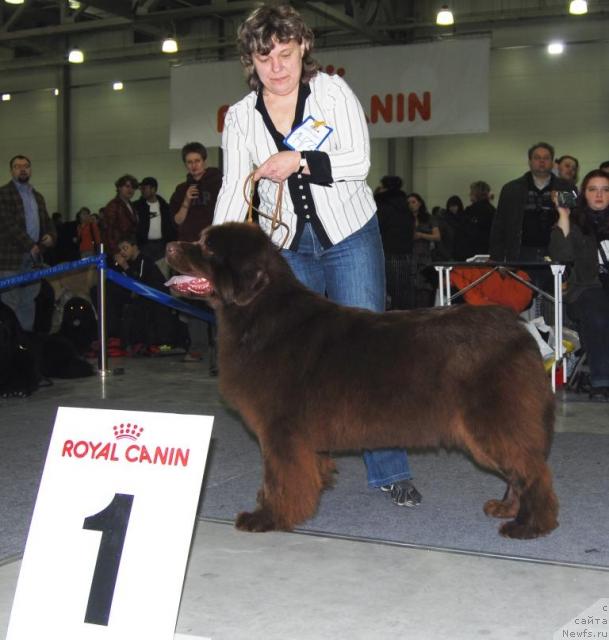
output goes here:
[{"label": "man in brown jacket and blue shirt at far left edge", "polygon": [[[42,250],[56,239],[44,198],[30,184],[30,159],[14,156],[9,167],[11,180],[0,187],[0,278],[37,267]],[[34,328],[39,291],[39,282],[0,291],[0,299],[15,312],[25,331]]]}]

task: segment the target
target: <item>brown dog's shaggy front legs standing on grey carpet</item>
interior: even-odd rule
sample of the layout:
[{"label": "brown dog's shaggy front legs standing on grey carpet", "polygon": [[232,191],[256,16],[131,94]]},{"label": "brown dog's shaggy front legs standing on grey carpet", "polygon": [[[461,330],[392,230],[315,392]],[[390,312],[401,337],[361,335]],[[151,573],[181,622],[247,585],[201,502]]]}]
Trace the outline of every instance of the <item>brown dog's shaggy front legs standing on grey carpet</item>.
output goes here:
[{"label": "brown dog's shaggy front legs standing on grey carpet", "polygon": [[261,442],[261,449],[264,480],[258,506],[240,513],[235,526],[242,531],[289,531],[315,513],[332,465],[320,462],[319,455],[296,438],[281,444]]}]

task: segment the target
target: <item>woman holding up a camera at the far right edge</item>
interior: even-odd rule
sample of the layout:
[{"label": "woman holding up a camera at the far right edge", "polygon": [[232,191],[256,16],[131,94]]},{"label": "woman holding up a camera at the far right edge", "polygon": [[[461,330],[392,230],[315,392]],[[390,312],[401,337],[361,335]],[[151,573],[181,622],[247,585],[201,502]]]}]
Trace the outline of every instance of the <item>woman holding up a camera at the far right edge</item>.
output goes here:
[{"label": "woman holding up a camera at the far right edge", "polygon": [[573,209],[555,194],[558,222],[550,236],[553,260],[571,264],[565,302],[577,323],[590,367],[590,397],[609,402],[609,175],[584,178]]}]

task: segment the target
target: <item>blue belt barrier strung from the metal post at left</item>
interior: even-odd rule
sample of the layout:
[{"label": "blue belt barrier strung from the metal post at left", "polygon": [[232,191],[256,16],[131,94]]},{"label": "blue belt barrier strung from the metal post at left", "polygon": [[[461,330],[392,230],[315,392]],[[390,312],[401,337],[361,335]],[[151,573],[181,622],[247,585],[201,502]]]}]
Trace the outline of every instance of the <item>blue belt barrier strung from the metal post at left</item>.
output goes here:
[{"label": "blue belt barrier strung from the metal post at left", "polygon": [[[106,254],[101,253],[97,256],[91,256],[90,258],[82,258],[81,260],[74,260],[72,262],[63,262],[62,264],[55,265],[54,267],[47,267],[46,269],[34,269],[33,271],[24,271],[23,273],[18,273],[15,276],[10,276],[8,278],[0,279],[0,290],[9,289],[11,287],[16,287],[22,284],[28,284],[30,282],[35,282],[36,280],[41,280],[42,278],[46,278],[47,276],[56,276],[60,273],[65,273],[66,271],[74,271],[76,269],[82,269],[83,267],[88,267],[89,265],[94,264],[98,269],[105,268],[106,266]],[[174,298],[173,296],[163,293],[158,289],[154,289],[153,287],[149,287],[137,280],[133,280],[118,271],[114,271],[112,269],[106,269],[106,277],[116,284],[124,287],[125,289],[129,289],[134,293],[137,293],[140,296],[144,296],[150,300],[154,300],[160,304],[164,304],[167,307],[173,307],[178,311],[183,313],[187,313],[195,318],[199,318],[199,320],[203,320],[205,322],[215,323],[216,318],[213,313],[209,311],[204,311],[203,309],[197,309],[178,298]]]}]

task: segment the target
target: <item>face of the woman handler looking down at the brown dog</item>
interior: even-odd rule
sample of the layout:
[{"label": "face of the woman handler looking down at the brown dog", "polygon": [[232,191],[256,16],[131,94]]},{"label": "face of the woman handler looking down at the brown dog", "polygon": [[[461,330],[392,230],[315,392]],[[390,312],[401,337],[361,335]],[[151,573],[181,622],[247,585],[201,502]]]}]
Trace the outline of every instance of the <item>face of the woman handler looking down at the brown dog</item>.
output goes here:
[{"label": "face of the woman handler looking down at the brown dog", "polygon": [[286,96],[298,91],[305,45],[304,42],[298,44],[296,40],[273,42],[274,46],[268,55],[254,53],[254,69],[266,91],[277,96]]}]

